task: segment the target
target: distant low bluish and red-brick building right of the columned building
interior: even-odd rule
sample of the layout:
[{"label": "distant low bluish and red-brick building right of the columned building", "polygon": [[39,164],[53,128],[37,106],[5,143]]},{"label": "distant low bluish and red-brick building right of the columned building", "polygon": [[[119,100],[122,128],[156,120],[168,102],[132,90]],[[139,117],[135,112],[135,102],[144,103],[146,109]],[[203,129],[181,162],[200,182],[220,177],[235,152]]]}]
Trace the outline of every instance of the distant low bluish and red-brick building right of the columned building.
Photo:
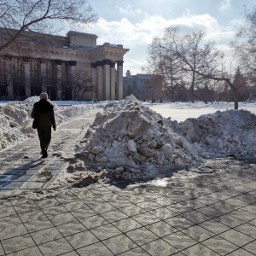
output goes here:
[{"label": "distant low bluish and red-brick building right of the columned building", "polygon": [[140,100],[160,100],[163,95],[160,75],[137,73],[127,70],[124,77],[124,96],[133,94]]}]

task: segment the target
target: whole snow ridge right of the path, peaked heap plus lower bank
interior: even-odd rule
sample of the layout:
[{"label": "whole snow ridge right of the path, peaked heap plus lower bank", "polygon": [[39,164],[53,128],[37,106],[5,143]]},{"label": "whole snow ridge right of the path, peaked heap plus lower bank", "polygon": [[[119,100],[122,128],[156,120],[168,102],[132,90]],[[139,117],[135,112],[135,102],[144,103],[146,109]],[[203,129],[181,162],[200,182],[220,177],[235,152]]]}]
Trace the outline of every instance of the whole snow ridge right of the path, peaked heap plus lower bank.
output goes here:
[{"label": "whole snow ridge right of the path, peaked heap plus lower bank", "polygon": [[96,114],[77,148],[77,161],[67,171],[81,172],[91,163],[97,172],[107,169],[114,177],[134,179],[154,177],[157,170],[197,166],[203,158],[253,157],[255,125],[256,116],[246,110],[217,111],[177,123],[131,95],[109,102]]}]

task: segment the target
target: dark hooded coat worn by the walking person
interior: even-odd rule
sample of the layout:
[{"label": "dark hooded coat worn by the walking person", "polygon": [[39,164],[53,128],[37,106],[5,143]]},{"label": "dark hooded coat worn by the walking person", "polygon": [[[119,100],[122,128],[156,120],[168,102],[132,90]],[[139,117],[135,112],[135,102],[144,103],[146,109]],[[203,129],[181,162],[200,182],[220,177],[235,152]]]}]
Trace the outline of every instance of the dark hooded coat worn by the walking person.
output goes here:
[{"label": "dark hooded coat worn by the walking person", "polygon": [[31,117],[38,117],[38,127],[52,126],[56,128],[54,106],[49,100],[40,100],[34,103]]}]

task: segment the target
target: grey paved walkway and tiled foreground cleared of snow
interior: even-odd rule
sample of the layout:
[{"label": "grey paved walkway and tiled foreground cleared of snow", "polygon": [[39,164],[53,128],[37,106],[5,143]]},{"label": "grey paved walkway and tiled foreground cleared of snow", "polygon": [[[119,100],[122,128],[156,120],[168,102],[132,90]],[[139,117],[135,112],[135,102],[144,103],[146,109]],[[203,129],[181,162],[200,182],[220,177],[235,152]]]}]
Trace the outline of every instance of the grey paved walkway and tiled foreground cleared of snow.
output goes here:
[{"label": "grey paved walkway and tiled foreground cleared of snow", "polygon": [[[51,146],[70,153],[92,118],[63,125]],[[2,197],[44,189],[65,165],[41,160],[37,138],[0,159]],[[44,170],[52,175],[40,177]],[[256,165],[166,187],[96,184],[42,200],[9,197],[0,201],[0,255],[256,255]]]}]

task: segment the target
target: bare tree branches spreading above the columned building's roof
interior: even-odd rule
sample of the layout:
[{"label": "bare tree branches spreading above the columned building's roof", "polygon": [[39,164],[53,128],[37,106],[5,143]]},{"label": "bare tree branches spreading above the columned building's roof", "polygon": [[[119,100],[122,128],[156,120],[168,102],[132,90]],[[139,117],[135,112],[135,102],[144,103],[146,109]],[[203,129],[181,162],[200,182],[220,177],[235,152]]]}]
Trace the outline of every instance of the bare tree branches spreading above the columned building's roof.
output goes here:
[{"label": "bare tree branches spreading above the columned building's roof", "polygon": [[[81,26],[96,20],[87,0],[0,0],[0,52],[17,42],[42,44],[38,32],[44,38],[67,24]],[[31,31],[37,33],[27,39],[26,32]]]}]

